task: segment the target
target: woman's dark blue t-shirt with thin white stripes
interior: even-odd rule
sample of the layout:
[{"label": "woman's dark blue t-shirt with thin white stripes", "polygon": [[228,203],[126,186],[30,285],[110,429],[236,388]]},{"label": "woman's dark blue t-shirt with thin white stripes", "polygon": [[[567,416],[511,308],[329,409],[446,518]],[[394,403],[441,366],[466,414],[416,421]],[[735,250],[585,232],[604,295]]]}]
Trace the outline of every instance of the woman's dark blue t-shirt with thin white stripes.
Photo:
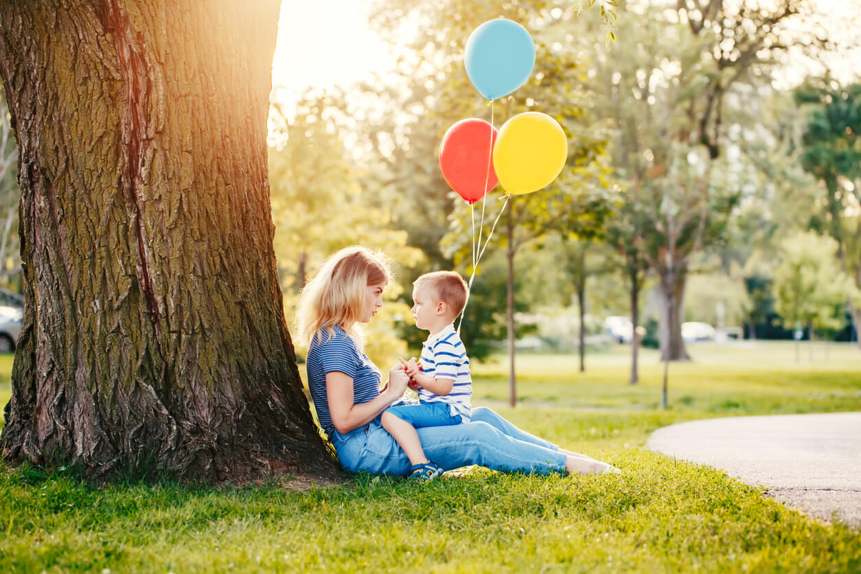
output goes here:
[{"label": "woman's dark blue t-shirt with thin white stripes", "polygon": [[329,398],[325,390],[325,375],[340,371],[353,378],[353,404],[367,403],[380,394],[381,374],[368,355],[359,350],[356,341],[335,326],[335,334],[319,330],[308,348],[306,359],[308,390],[317,410],[317,420],[331,439],[335,425],[329,414]]}]

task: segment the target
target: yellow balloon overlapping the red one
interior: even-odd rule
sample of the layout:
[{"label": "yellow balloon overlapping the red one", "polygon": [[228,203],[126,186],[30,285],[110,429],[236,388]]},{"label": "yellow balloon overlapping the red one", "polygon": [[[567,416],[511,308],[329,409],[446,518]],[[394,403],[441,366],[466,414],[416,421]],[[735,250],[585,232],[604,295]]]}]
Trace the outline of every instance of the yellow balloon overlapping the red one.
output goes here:
[{"label": "yellow balloon overlapping the red one", "polygon": [[556,179],[568,157],[568,140],[548,114],[526,112],[508,120],[493,146],[493,170],[510,194],[529,194]]}]

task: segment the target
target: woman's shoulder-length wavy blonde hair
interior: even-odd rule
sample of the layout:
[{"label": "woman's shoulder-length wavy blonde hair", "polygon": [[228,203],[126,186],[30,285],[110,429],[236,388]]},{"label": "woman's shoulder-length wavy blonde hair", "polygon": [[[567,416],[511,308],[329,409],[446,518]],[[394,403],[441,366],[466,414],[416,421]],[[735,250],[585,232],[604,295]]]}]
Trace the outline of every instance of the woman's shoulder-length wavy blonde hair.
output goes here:
[{"label": "woman's shoulder-length wavy blonde hair", "polygon": [[329,257],[300,293],[299,342],[308,347],[322,330],[332,336],[339,325],[362,349],[364,336],[357,323],[365,312],[367,288],[389,281],[392,272],[380,252],[354,245]]}]

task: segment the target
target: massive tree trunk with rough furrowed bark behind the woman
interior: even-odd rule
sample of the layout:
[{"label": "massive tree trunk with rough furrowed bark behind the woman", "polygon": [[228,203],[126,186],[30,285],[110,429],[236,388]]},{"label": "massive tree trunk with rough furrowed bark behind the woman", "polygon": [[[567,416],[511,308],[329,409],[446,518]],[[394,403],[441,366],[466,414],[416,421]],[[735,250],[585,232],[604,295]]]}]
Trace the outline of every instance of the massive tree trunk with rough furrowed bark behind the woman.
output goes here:
[{"label": "massive tree trunk with rough furrowed bark behind the woman", "polygon": [[71,464],[96,481],[334,476],[272,247],[278,9],[0,10],[26,298],[0,438],[8,460]]}]

